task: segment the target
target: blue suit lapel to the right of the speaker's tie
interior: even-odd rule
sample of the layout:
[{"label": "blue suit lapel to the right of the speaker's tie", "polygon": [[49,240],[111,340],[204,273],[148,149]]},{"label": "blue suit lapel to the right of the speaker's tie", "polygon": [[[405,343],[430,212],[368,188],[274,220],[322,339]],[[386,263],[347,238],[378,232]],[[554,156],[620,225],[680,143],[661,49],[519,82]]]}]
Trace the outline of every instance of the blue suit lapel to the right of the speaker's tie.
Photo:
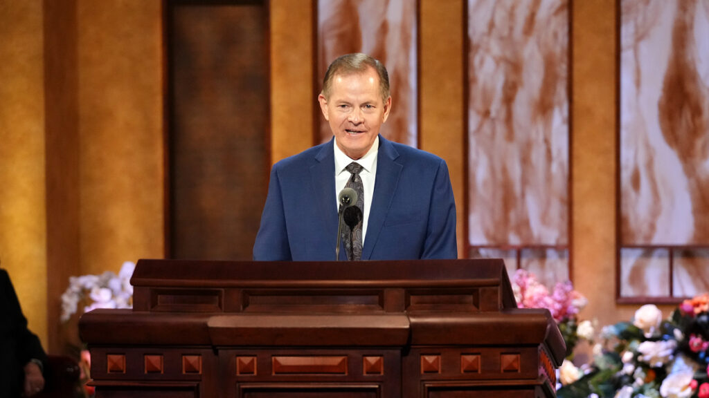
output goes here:
[{"label": "blue suit lapel to the right of the speaker's tie", "polygon": [[[376,157],[376,180],[374,181],[374,197],[372,198],[372,210],[369,212],[367,220],[367,237],[364,238],[362,248],[362,260],[369,260],[372,250],[379,239],[381,227],[384,226],[391,200],[396,192],[401,169],[403,165],[397,163],[398,152],[391,142],[379,136],[379,154]],[[333,188],[334,189],[334,188]],[[336,234],[337,232],[335,232]]]}]

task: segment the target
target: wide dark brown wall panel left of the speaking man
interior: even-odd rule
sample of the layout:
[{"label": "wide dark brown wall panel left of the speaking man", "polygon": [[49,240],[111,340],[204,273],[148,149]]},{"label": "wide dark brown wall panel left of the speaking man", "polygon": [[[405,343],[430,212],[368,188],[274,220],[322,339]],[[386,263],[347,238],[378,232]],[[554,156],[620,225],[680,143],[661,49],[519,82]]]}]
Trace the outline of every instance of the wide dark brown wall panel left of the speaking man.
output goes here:
[{"label": "wide dark brown wall panel left of the speaking man", "polygon": [[270,163],[268,10],[168,7],[170,255],[250,259]]}]

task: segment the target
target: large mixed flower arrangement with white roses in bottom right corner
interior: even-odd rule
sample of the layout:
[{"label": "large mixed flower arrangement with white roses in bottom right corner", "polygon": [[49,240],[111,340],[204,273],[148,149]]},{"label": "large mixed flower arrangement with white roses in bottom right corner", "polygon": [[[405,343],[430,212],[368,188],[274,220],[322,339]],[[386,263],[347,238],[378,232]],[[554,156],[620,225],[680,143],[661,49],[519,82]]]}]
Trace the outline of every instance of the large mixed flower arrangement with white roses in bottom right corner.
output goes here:
[{"label": "large mixed flower arrangement with white roses in bottom right corner", "polygon": [[684,300],[667,318],[643,305],[631,322],[603,328],[593,362],[570,365],[576,380],[562,380],[557,397],[709,398],[708,353],[709,295]]}]

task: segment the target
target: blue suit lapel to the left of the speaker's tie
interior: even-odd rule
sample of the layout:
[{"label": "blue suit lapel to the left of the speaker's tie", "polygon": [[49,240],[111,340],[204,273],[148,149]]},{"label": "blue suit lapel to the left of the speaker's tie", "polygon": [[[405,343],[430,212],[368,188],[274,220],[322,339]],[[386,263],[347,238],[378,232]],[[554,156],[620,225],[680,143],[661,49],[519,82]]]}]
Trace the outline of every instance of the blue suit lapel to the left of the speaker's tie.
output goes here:
[{"label": "blue suit lapel to the left of the speaker's tie", "polygon": [[[311,183],[315,194],[315,204],[318,206],[322,227],[317,234],[325,234],[325,241],[332,237],[332,246],[325,248],[335,256],[335,239],[337,238],[337,204],[335,200],[335,152],[334,139],[323,145],[316,154],[315,162],[310,168]],[[340,249],[340,259],[344,250]],[[347,258],[344,258],[347,260]]]}]

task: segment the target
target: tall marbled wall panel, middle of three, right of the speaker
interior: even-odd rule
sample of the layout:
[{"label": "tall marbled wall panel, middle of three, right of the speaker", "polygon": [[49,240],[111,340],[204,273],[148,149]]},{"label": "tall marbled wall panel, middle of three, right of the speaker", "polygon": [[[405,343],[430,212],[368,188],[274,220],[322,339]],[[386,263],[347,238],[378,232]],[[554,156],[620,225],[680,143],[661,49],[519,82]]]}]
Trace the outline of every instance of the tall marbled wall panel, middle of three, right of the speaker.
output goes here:
[{"label": "tall marbled wall panel, middle of three, right of the speaker", "polygon": [[568,244],[569,4],[468,1],[469,243]]}]

